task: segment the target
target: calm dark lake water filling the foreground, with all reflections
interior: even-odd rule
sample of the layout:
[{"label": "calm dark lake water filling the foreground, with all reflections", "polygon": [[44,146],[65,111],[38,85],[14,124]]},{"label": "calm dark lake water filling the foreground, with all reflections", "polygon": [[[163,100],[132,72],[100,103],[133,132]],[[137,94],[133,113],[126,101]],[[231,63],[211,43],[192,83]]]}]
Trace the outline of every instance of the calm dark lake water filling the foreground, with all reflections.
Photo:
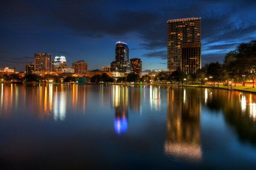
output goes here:
[{"label": "calm dark lake water filling the foreground, with all reflections", "polygon": [[256,169],[256,95],[0,84],[0,169]]}]

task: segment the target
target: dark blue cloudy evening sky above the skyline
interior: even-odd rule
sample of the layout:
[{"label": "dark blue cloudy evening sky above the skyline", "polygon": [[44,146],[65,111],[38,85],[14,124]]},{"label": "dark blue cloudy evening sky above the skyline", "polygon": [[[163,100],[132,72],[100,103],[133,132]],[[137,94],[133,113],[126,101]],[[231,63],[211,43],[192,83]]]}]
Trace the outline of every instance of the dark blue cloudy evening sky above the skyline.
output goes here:
[{"label": "dark blue cloudy evening sky above the skyline", "polygon": [[34,53],[84,59],[88,69],[114,61],[115,43],[128,43],[143,70],[167,70],[167,20],[201,17],[203,65],[222,62],[256,38],[256,0],[1,0],[0,68],[25,70]]}]

